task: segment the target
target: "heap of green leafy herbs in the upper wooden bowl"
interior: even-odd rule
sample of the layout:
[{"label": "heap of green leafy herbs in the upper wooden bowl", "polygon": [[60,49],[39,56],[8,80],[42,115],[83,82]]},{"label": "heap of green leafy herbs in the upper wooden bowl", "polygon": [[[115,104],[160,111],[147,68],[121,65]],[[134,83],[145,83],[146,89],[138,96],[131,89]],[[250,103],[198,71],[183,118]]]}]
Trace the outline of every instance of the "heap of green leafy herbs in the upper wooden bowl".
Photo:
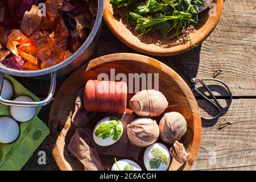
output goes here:
[{"label": "heap of green leafy herbs in the upper wooden bowl", "polygon": [[[164,39],[177,38],[181,42],[191,41],[189,34],[183,31],[192,28],[199,21],[199,6],[203,0],[110,0],[118,7],[125,7],[127,22],[136,26],[142,36],[159,31]],[[171,36],[170,32],[172,32]],[[193,42],[192,42],[193,43]]]}]

